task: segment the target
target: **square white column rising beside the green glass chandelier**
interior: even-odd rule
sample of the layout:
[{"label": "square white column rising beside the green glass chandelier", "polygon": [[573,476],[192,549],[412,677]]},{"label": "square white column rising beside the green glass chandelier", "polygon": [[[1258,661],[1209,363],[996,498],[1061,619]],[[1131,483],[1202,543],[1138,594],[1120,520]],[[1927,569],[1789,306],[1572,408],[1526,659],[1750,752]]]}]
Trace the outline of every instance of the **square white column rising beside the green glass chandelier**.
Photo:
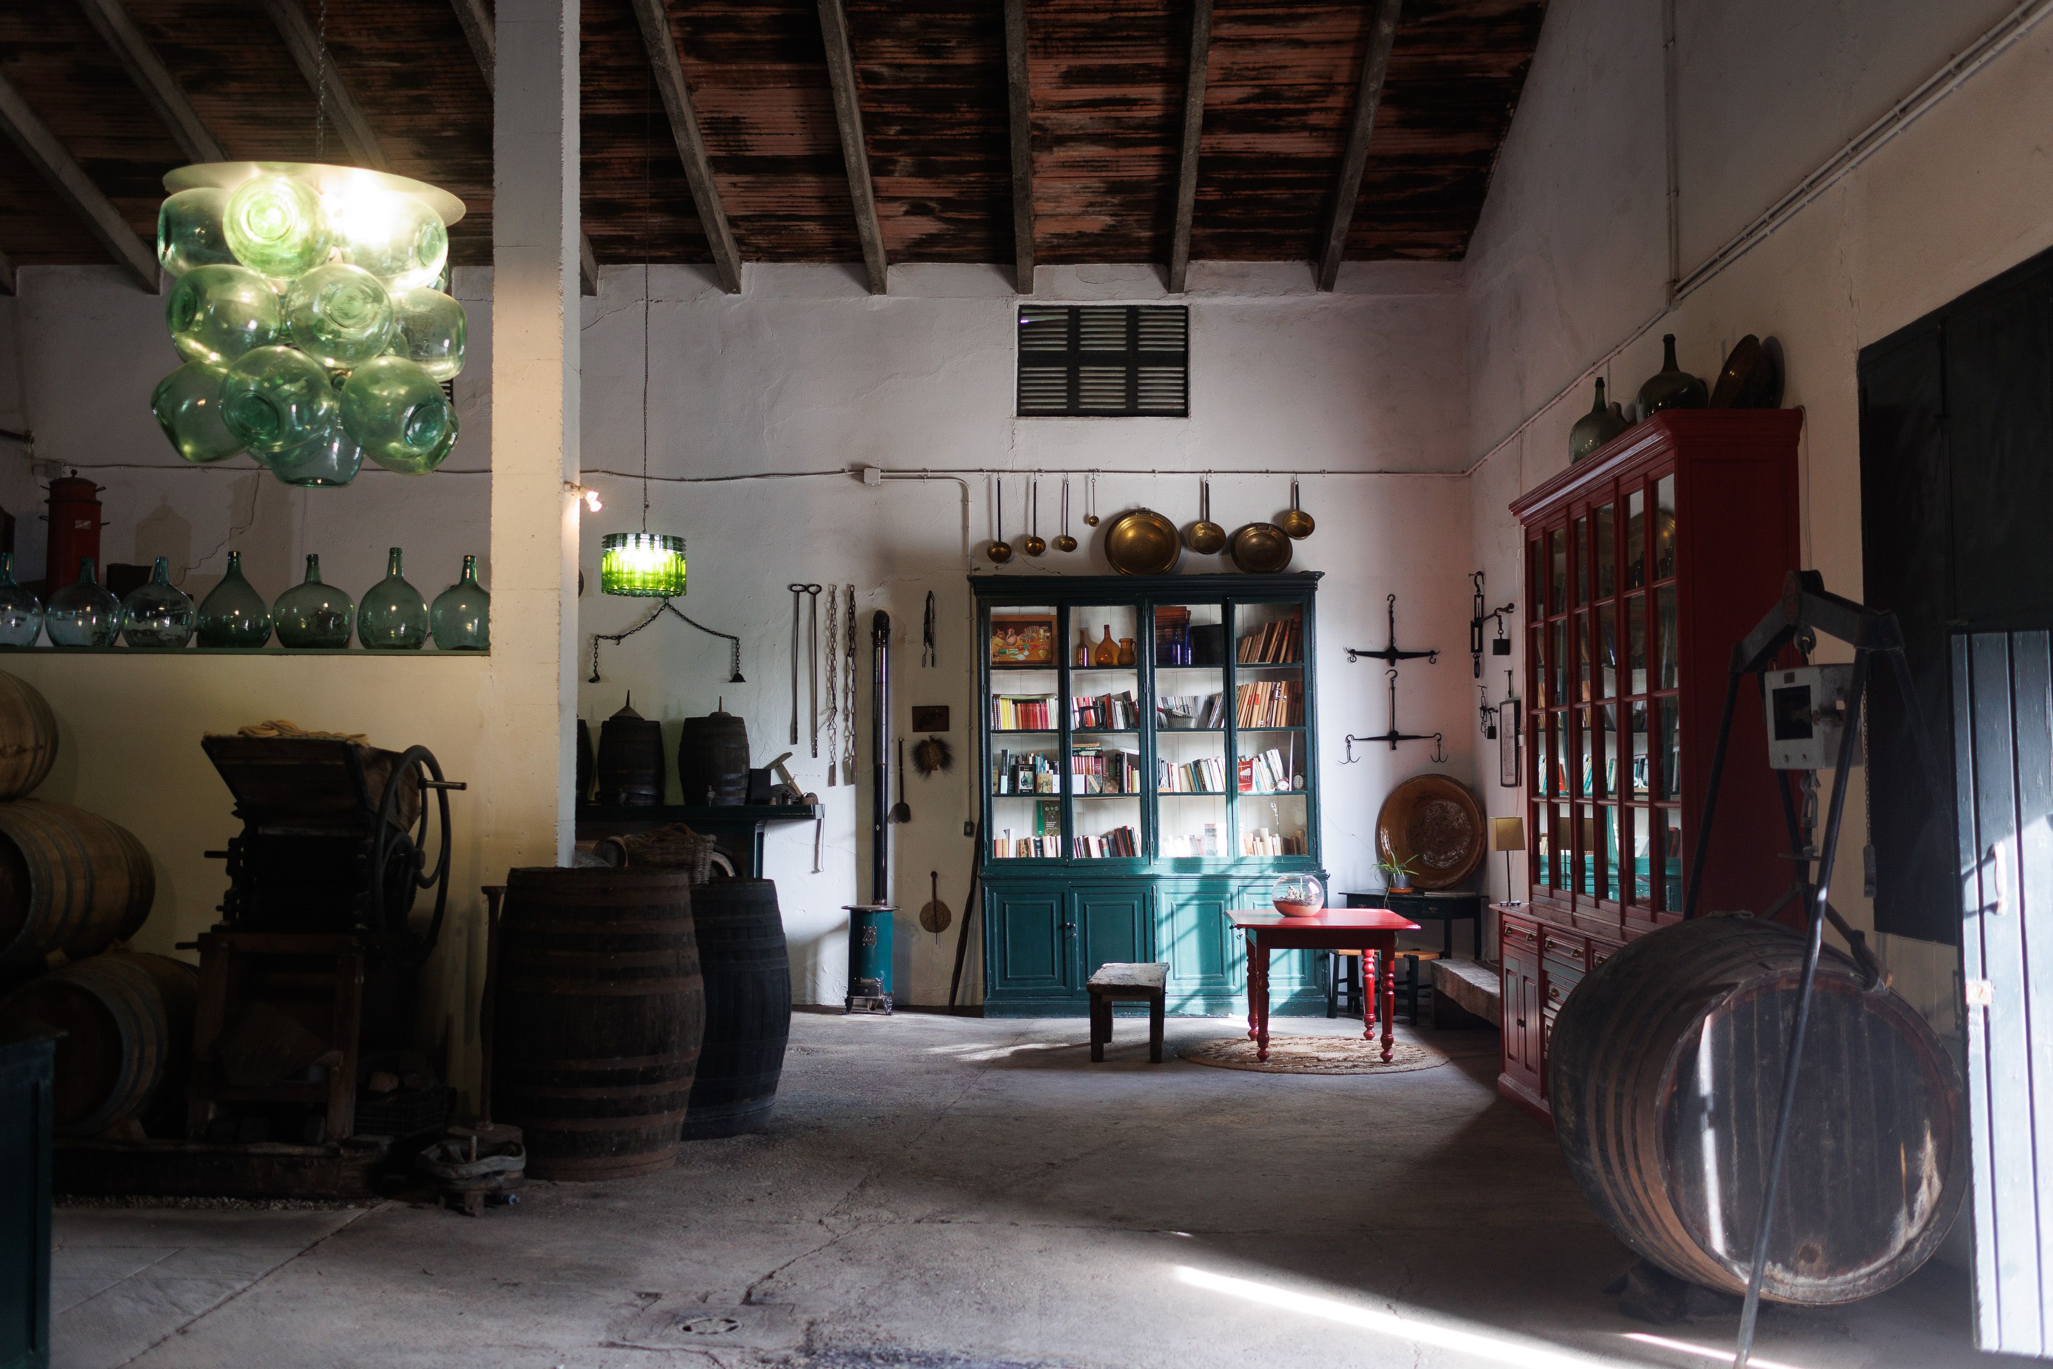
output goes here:
[{"label": "square white column rising beside the green glass chandelier", "polygon": [[491,708],[505,745],[476,811],[503,864],[569,864],[579,503],[565,482],[579,480],[579,6],[499,0],[497,18]]}]

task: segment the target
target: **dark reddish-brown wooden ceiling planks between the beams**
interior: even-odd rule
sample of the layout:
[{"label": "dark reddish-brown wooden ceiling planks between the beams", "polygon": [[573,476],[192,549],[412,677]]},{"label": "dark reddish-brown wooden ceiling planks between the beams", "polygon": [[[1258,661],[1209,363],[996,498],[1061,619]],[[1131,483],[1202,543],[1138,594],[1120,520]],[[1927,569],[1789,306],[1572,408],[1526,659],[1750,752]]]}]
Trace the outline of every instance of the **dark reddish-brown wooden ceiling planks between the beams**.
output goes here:
[{"label": "dark reddish-brown wooden ceiling planks between the beams", "polygon": [[[1187,0],[1026,0],[1035,248],[1043,263],[1166,263]],[[1546,0],[1406,0],[1349,259],[1454,261],[1540,37]],[[314,158],[314,96],[257,0],[127,0],[230,156]],[[308,6],[314,8],[312,2]],[[846,0],[885,252],[1012,259],[1002,0]],[[817,0],[667,0],[745,261],[860,261]],[[1373,0],[1215,0],[1193,259],[1304,261],[1330,211]],[[328,0],[335,70],[394,172],[460,195],[456,261],[491,257],[491,94],[446,0]],[[626,0],[583,0],[583,211],[599,261],[710,261]],[[14,82],[99,189],[154,238],[185,158],[76,0],[0,6]],[[333,127],[326,158],[347,160]],[[0,140],[0,250],[105,248]]]}]

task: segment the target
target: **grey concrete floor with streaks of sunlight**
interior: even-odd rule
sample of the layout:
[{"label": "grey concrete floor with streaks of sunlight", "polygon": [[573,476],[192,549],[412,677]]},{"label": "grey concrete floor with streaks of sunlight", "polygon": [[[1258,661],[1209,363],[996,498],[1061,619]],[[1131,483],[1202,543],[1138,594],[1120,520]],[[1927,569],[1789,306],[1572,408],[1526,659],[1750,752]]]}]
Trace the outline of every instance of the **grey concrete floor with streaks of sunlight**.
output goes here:
[{"label": "grey concrete floor with streaks of sunlight", "polygon": [[[1347,1030],[1291,1020],[1287,1030]],[[1170,1020],[1170,1049],[1226,1034]],[[1733,1322],[1651,1328],[1495,1041],[1386,1078],[1090,1065],[1082,1020],[799,1014],[772,1131],[669,1174],[534,1184],[460,1217],[57,1215],[57,1369],[1203,1369],[1716,1365]],[[1359,1026],[1355,1028],[1359,1030]],[[1636,1336],[1655,1336],[1644,1340]],[[1975,1355],[1928,1266],[1772,1309],[1757,1365]]]}]

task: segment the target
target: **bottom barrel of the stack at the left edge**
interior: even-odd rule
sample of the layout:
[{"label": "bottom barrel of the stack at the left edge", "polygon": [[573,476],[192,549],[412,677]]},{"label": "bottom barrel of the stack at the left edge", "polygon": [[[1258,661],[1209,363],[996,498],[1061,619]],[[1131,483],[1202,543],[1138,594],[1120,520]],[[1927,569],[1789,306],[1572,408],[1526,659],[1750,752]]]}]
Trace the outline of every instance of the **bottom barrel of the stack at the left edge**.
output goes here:
[{"label": "bottom barrel of the stack at the left edge", "polygon": [[64,1030],[51,1121],[60,1137],[88,1137],[183,1106],[197,1002],[199,971],[185,961],[113,950],[16,989],[0,1020]]}]

